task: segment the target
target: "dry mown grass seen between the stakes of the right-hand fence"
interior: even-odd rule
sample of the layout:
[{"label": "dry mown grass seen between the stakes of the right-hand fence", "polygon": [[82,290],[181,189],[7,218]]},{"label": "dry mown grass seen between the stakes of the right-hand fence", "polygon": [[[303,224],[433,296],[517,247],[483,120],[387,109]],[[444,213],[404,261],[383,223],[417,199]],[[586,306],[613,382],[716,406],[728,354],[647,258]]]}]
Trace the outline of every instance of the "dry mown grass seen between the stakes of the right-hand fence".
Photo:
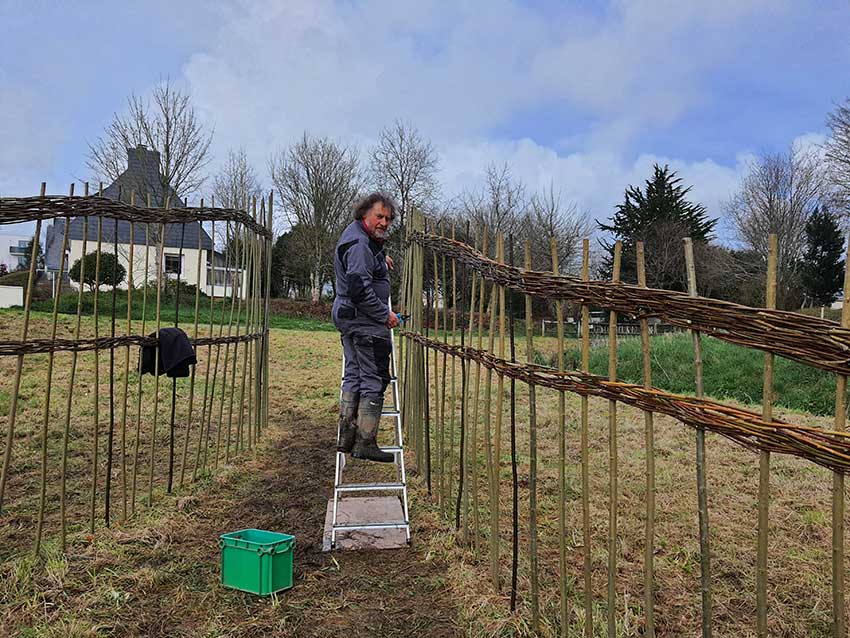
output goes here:
[{"label": "dry mown grass seen between the stakes of the right-hand fence", "polygon": [[[551,343],[536,341],[538,348]],[[518,356],[524,356],[520,352]],[[459,375],[459,365],[458,372]],[[474,381],[474,372],[471,379]],[[472,384],[471,384],[472,385]],[[507,384],[506,384],[507,386]],[[473,386],[474,387],[474,386]],[[495,382],[494,382],[495,392]],[[482,393],[483,394],[483,393]],[[543,635],[559,635],[558,607],[558,412],[557,393],[538,390],[539,536]],[[493,401],[495,405],[495,401]],[[505,401],[507,410],[508,402]],[[580,400],[567,395],[567,541],[573,586],[571,627],[582,629],[581,479],[578,432]],[[495,409],[495,408],[493,408]],[[432,411],[433,414],[433,411]],[[487,540],[480,559],[457,548],[449,560],[471,635],[526,635],[530,622],[528,574],[528,391],[517,385],[520,499],[520,608],[508,613],[510,576],[510,457],[503,430],[501,475],[502,592],[490,586]],[[830,427],[831,420],[778,410],[777,418]],[[507,423],[507,412],[505,423]],[[659,635],[699,634],[699,541],[696,508],[694,431],[668,417],[656,429],[656,626]],[[434,426],[432,426],[434,428]],[[605,635],[608,533],[608,402],[590,401],[590,507],[592,524],[594,632]],[[479,426],[479,432],[482,428]],[[620,633],[643,630],[645,538],[645,451],[642,412],[618,406],[619,507],[618,605]],[[433,447],[433,445],[432,445]],[[482,534],[489,533],[486,457],[479,440]],[[755,636],[755,548],[758,455],[726,439],[707,436],[712,580],[716,635]],[[436,467],[436,462],[435,462]],[[774,455],[771,472],[769,540],[769,629],[777,636],[827,636],[831,620],[831,474],[801,459]],[[415,515],[415,514],[414,514]],[[845,525],[850,523],[850,517]],[[846,550],[845,550],[846,551]],[[461,563],[460,556],[465,557]],[[476,585],[477,583],[477,585]]]}]

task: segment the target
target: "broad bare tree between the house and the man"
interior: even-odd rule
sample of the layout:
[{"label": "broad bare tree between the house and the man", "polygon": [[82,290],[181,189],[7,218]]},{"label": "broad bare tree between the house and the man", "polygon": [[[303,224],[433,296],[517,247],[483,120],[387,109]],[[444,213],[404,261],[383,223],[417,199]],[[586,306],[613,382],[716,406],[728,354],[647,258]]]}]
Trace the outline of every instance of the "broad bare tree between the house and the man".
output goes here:
[{"label": "broad bare tree between the house and the man", "polygon": [[305,133],[269,161],[272,183],[290,226],[299,225],[309,255],[310,293],[318,301],[331,280],[333,246],[350,221],[362,176],[354,149]]}]

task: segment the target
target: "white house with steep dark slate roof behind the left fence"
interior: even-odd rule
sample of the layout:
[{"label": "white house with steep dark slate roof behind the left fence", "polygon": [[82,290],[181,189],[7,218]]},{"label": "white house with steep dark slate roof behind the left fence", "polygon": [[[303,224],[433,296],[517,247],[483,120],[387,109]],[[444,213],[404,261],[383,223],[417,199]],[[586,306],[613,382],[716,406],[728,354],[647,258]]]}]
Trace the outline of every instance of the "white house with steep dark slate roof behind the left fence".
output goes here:
[{"label": "white house with steep dark slate roof behind the left fence", "polygon": [[[183,206],[184,203],[177,194],[170,188],[166,188],[163,183],[164,180],[159,174],[159,153],[144,146],[137,146],[127,149],[127,170],[103,190],[103,197],[118,200],[120,195],[121,201],[129,203],[130,193],[135,192],[135,203],[139,206],[145,205],[148,196],[151,206],[164,206],[167,198],[170,199],[172,206]],[[84,226],[83,218],[77,217],[70,221],[68,250],[65,253],[65,266],[62,273],[65,282],[68,282],[68,271],[83,255]],[[147,251],[145,250],[147,225],[137,223],[133,226],[133,285],[140,286],[145,281],[156,279],[159,225],[151,224],[150,226]],[[65,220],[61,218],[55,219],[47,228],[45,268],[54,278],[59,274],[64,233]],[[96,252],[97,218],[89,218],[86,240],[86,253]],[[130,222],[118,220],[116,223],[114,219],[104,218],[101,229],[101,254],[112,253],[115,250],[116,240],[118,261],[127,270],[129,277]],[[147,272],[145,272],[146,252]],[[198,222],[165,225],[163,272],[166,277],[176,278],[179,274],[182,281],[199,286],[207,295],[229,296],[232,293],[230,285],[238,280],[239,275],[233,268],[226,270],[224,261],[224,256],[214,250],[212,238]],[[244,284],[244,273],[241,273],[241,276]],[[125,278],[119,287],[126,289],[127,285],[128,281]],[[244,285],[242,289],[245,289]]]}]

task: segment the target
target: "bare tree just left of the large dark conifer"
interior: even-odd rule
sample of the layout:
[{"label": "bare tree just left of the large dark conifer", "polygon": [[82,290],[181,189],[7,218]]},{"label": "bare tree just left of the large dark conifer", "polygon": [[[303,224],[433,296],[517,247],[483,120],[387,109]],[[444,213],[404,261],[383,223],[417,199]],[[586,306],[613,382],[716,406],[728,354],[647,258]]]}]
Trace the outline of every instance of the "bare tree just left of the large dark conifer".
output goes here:
[{"label": "bare tree just left of the large dark conifer", "polygon": [[581,240],[592,232],[587,213],[574,203],[564,204],[553,183],[531,197],[524,218],[525,238],[531,242],[532,266],[537,270],[552,267],[550,238],[555,238],[561,272],[574,272],[581,257]]}]

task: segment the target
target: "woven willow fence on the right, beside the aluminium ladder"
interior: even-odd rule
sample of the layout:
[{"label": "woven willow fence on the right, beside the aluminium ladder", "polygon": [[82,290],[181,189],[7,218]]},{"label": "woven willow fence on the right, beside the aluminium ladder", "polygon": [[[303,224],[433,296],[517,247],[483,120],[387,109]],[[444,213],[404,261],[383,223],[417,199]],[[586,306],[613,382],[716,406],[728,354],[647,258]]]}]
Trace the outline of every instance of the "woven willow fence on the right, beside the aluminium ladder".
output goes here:
[{"label": "woven willow fence on the right, beside the aluminium ladder", "polygon": [[[403,418],[412,442],[416,464],[427,480],[429,493],[435,493],[445,516],[450,517],[461,539],[475,556],[489,554],[491,587],[495,592],[510,587],[510,605],[517,605],[517,571],[520,560],[527,561],[529,589],[523,592],[530,609],[530,629],[541,628],[539,538],[538,538],[538,389],[558,393],[558,466],[557,538],[559,545],[558,589],[559,610],[552,623],[560,635],[576,635],[570,619],[581,619],[584,635],[594,631],[593,615],[600,613],[593,594],[592,535],[589,479],[589,397],[601,397],[608,403],[608,541],[607,591],[602,613],[610,638],[618,635],[622,619],[616,617],[618,596],[618,511],[620,497],[618,432],[619,403],[634,406],[644,414],[645,454],[645,538],[643,556],[643,635],[656,635],[655,599],[658,583],[654,556],[657,549],[655,520],[656,468],[653,415],[669,415],[690,426],[695,432],[694,464],[696,466],[695,501],[698,511],[699,572],[701,592],[701,627],[703,636],[713,635],[713,580],[711,570],[708,490],[706,487],[706,432],[720,434],[736,444],[759,454],[758,542],[756,562],[756,632],[768,631],[768,531],[770,503],[771,454],[793,455],[833,472],[832,485],[832,635],[845,636],[846,605],[844,597],[844,476],[850,472],[850,433],[845,432],[847,375],[850,374],[850,308],[845,304],[841,324],[796,313],[775,310],[776,254],[775,237],[771,238],[765,308],[750,308],[734,303],[697,296],[693,249],[685,240],[688,270],[688,293],[653,290],[646,286],[643,246],[637,246],[638,285],[619,281],[620,251],[615,246],[612,281],[589,278],[589,244],[584,242],[582,276],[560,274],[557,252],[552,242],[550,272],[531,269],[530,248],[524,246],[523,267],[515,265],[513,241],[505,249],[502,236],[492,237],[486,229],[472,239],[467,226],[463,236],[470,243],[450,236],[446,229],[430,226],[427,232],[422,219],[414,221],[409,234],[402,284],[402,308],[410,314],[407,331],[403,332],[401,373]],[[436,228],[436,232],[433,232]],[[494,241],[495,239],[495,241]],[[490,246],[488,246],[488,243]],[[495,249],[493,249],[495,243]],[[493,258],[488,255],[494,255]],[[425,286],[426,271],[430,271]],[[470,281],[471,280],[471,281]],[[489,290],[488,290],[489,288]],[[427,290],[426,290],[427,289]],[[525,352],[527,359],[516,358],[511,308],[516,295],[525,297]],[[850,276],[845,275],[845,299],[850,299]],[[558,367],[545,367],[534,362],[532,300],[542,297],[555,301]],[[449,303],[451,300],[451,304]],[[506,304],[507,301],[507,304]],[[580,305],[581,369],[566,370],[564,364],[563,303]],[[506,307],[507,305],[507,307]],[[610,311],[608,331],[608,376],[589,372],[590,307]],[[617,381],[617,317],[618,313],[638,319],[643,353],[643,383]],[[667,323],[690,330],[694,352],[694,396],[681,396],[652,387],[648,319],[659,317]],[[488,326],[485,330],[485,318]],[[433,329],[433,334],[431,330]],[[442,338],[441,338],[442,335]],[[733,344],[765,352],[764,400],[760,413],[745,410],[703,397],[702,337],[721,339]],[[836,375],[835,420],[831,430],[786,423],[773,418],[773,357],[780,355]],[[459,365],[456,365],[459,364]],[[459,370],[456,368],[459,367]],[[494,384],[495,377],[495,384]],[[510,391],[506,391],[506,381]],[[527,432],[527,457],[523,459],[523,476],[517,461],[516,381],[527,388],[523,399]],[[495,387],[494,387],[495,385]],[[483,387],[482,387],[483,386]],[[567,428],[565,393],[580,396],[577,432]],[[506,406],[509,402],[509,408]],[[506,413],[509,416],[506,416]],[[507,418],[507,423],[506,423]],[[507,430],[507,432],[506,432]],[[568,437],[580,439],[581,521],[567,520],[566,473]],[[509,440],[506,443],[505,439]],[[716,440],[716,439],[715,439]],[[504,467],[503,448],[510,446],[510,550],[503,547],[508,532],[502,531]],[[483,450],[482,450],[483,447]],[[486,497],[479,494],[480,477],[488,486]],[[436,480],[432,484],[432,474]],[[528,492],[528,511],[524,529],[519,529],[519,485]],[[481,512],[489,512],[489,521]],[[580,532],[579,532],[580,528]],[[581,537],[573,543],[583,554],[582,577],[573,578],[569,571],[567,537]],[[488,535],[487,546],[482,536]],[[520,547],[522,538],[522,547]],[[510,584],[503,584],[503,553],[511,552]],[[522,556],[521,556],[522,554]],[[574,582],[575,581],[575,582]],[[571,591],[582,592],[583,609],[570,609]],[[620,624],[618,624],[620,621]]]}]

